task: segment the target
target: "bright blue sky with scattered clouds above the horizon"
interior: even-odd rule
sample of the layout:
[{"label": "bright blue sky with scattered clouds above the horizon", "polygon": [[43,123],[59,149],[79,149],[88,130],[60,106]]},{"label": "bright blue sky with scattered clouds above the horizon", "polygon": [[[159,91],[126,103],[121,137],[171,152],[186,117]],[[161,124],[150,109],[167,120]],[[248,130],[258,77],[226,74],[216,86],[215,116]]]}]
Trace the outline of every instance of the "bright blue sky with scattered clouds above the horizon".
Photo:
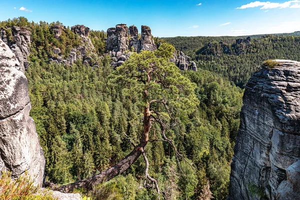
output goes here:
[{"label": "bright blue sky with scattered clouds above the horizon", "polygon": [[106,30],[145,24],[154,36],[219,36],[300,30],[300,0],[0,0],[0,20],[28,20]]}]

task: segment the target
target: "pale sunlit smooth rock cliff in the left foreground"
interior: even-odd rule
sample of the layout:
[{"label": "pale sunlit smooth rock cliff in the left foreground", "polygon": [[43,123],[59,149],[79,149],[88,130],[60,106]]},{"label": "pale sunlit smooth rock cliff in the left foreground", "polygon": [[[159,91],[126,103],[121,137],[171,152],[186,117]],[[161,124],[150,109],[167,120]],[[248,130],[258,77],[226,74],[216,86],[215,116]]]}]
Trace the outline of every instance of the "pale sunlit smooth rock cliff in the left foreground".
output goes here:
[{"label": "pale sunlit smooth rock cliff in the left foreground", "polygon": [[45,159],[35,130],[28,83],[19,61],[0,40],[0,170],[11,177],[28,171],[34,183],[41,186]]}]

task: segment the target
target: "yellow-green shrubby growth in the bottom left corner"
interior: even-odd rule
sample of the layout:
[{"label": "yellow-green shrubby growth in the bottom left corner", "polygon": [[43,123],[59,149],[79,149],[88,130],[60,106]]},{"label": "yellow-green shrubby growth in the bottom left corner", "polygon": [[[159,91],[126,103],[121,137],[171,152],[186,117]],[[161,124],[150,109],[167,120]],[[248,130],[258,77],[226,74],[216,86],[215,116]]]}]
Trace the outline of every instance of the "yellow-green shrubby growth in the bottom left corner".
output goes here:
[{"label": "yellow-green shrubby growth in the bottom left corner", "polygon": [[49,194],[39,192],[34,186],[33,180],[25,172],[15,180],[10,178],[10,172],[2,172],[0,177],[0,199],[1,200],[55,200]]}]

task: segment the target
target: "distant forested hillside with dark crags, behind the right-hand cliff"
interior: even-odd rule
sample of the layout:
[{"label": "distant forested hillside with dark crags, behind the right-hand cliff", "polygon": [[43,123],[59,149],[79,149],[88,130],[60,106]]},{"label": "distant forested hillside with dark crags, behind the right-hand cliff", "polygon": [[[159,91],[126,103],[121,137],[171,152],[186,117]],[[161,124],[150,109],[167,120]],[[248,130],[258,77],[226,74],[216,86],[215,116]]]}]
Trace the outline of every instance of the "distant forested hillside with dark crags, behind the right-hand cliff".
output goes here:
[{"label": "distant forested hillside with dark crags, behind the right-hand cliff", "polygon": [[[246,40],[247,36],[243,36]],[[198,68],[213,71],[244,87],[249,77],[264,60],[300,60],[299,32],[275,35],[251,35],[250,41],[233,36],[166,37],[173,44],[197,60]],[[238,41],[239,40],[239,41]]]}]

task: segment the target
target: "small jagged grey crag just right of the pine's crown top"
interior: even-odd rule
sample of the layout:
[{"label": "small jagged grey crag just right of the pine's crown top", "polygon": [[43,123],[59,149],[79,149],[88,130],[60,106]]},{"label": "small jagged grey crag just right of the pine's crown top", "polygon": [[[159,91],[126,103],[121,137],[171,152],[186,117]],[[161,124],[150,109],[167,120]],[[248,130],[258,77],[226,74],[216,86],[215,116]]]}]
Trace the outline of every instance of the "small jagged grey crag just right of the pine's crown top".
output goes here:
[{"label": "small jagged grey crag just right of the pine's crown top", "polygon": [[197,71],[197,66],[194,61],[191,61],[190,58],[185,55],[182,51],[176,51],[173,53],[173,58],[170,59],[171,62],[174,62],[180,70],[193,70]]}]

